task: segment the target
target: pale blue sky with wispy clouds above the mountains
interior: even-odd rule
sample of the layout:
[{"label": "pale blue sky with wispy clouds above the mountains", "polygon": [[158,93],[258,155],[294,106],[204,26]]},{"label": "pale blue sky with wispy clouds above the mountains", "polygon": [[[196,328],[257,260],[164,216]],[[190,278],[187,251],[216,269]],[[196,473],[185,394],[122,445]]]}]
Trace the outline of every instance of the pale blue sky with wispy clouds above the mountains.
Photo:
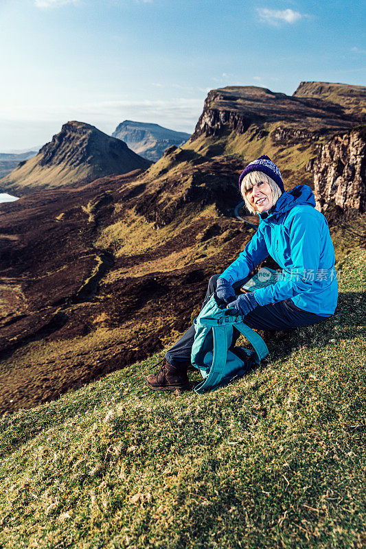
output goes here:
[{"label": "pale blue sky with wispy clouds above the mountains", "polygon": [[192,132],[210,89],[366,84],[361,1],[0,0],[0,151],[68,120]]}]

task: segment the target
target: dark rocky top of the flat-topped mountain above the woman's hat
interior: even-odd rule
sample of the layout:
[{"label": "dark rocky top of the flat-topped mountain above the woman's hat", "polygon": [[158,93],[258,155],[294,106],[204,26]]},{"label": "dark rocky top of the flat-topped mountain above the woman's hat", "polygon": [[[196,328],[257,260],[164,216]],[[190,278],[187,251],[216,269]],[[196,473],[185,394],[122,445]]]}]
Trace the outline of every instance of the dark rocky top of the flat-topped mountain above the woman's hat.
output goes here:
[{"label": "dark rocky top of the flat-topped mountain above the woman's hat", "polygon": [[359,117],[358,113],[352,113],[352,109],[346,112],[326,98],[289,96],[255,86],[227,86],[207,95],[191,141],[202,135],[217,137],[225,130],[240,135],[253,124],[261,128],[264,124],[280,121],[285,121],[287,127],[295,130],[297,139],[304,138],[301,132],[308,139],[314,139],[313,135],[317,139],[319,134],[329,130],[354,126]]}]

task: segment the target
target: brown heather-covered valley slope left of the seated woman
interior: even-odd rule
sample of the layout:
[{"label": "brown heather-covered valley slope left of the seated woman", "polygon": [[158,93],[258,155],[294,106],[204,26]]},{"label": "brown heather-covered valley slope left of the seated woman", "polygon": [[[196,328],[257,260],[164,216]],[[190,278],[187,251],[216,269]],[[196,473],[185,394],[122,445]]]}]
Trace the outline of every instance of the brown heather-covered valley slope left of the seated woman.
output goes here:
[{"label": "brown heather-covered valley slope left of the seated woman", "polygon": [[240,163],[172,156],[168,176],[106,177],[3,205],[1,412],[159,351],[249,240],[253,229],[228,216]]}]

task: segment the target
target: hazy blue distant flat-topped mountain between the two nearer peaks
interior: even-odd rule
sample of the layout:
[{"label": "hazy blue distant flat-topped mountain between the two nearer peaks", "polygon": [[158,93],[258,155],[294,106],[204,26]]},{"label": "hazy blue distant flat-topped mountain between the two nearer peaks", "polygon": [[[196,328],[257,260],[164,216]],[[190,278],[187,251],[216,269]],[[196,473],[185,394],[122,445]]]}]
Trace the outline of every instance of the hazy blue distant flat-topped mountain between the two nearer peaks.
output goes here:
[{"label": "hazy blue distant flat-topped mountain between the two nearer peaks", "polygon": [[182,145],[190,138],[190,134],[185,132],[168,130],[159,124],[145,124],[132,120],[124,120],[112,136],[122,139],[131,150],[153,162],[159,160],[168,147]]}]

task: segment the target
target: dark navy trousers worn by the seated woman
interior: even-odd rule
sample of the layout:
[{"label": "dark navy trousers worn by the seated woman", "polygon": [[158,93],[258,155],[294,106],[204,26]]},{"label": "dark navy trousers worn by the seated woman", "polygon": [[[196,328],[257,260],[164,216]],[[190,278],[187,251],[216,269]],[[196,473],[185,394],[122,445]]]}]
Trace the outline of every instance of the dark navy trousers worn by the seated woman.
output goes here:
[{"label": "dark navy trousers worn by the seated woman", "polygon": [[[209,279],[205,300],[202,308],[206,305],[211,294],[216,290],[216,281],[220,275],[215,274]],[[234,290],[238,290],[249,277],[242,279],[233,284]],[[251,328],[262,330],[289,330],[301,326],[310,326],[324,320],[324,316],[310,313],[299,309],[293,301],[285,299],[278,303],[270,303],[269,305],[258,305],[255,309],[243,316],[243,321]],[[192,345],[194,342],[194,326],[187,329],[185,334],[174,343],[173,347],[165,354],[166,360],[176,366],[176,368],[186,368],[190,363]],[[237,338],[236,338],[237,339]],[[235,345],[236,340],[232,342]]]}]

